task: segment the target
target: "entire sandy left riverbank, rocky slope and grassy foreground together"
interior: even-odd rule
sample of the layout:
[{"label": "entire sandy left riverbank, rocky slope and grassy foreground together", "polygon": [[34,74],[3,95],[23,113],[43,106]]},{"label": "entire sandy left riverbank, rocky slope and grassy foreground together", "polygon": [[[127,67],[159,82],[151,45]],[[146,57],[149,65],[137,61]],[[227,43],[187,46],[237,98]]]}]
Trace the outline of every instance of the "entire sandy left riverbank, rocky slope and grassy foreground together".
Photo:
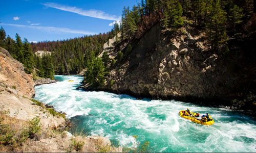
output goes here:
[{"label": "entire sandy left riverbank, rocky slope and grassy foreground together", "polygon": [[66,116],[33,99],[33,75],[0,47],[0,152],[121,152],[104,137],[67,132]]}]

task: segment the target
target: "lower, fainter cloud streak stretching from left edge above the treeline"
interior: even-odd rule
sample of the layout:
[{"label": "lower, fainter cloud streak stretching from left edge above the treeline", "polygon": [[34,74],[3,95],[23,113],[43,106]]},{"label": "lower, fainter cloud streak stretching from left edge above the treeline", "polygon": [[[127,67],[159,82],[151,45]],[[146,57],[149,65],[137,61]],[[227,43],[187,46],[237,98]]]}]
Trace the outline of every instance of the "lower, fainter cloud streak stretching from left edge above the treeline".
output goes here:
[{"label": "lower, fainter cloud streak stretching from left edge above the treeline", "polygon": [[8,25],[17,28],[29,28],[37,29],[41,31],[46,31],[49,33],[71,33],[71,34],[83,34],[83,35],[94,35],[93,32],[83,31],[83,30],[74,30],[69,28],[59,28],[59,27],[42,27],[42,26],[33,26],[33,25],[23,25],[23,24],[9,24],[9,23],[0,23],[0,25]]}]

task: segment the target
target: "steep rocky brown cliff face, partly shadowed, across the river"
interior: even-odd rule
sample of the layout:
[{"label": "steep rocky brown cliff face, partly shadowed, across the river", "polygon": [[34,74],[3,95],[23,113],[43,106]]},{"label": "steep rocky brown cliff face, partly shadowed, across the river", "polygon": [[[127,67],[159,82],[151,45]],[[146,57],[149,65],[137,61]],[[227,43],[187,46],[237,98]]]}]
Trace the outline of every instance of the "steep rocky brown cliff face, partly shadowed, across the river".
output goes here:
[{"label": "steep rocky brown cliff face, partly shadowed, across the river", "polygon": [[210,49],[204,33],[182,28],[173,34],[156,24],[131,44],[131,54],[118,61],[99,90],[202,103],[218,99],[230,105],[230,99],[248,94],[255,82],[255,60],[239,51],[250,40],[230,41],[231,53],[223,54]]}]

